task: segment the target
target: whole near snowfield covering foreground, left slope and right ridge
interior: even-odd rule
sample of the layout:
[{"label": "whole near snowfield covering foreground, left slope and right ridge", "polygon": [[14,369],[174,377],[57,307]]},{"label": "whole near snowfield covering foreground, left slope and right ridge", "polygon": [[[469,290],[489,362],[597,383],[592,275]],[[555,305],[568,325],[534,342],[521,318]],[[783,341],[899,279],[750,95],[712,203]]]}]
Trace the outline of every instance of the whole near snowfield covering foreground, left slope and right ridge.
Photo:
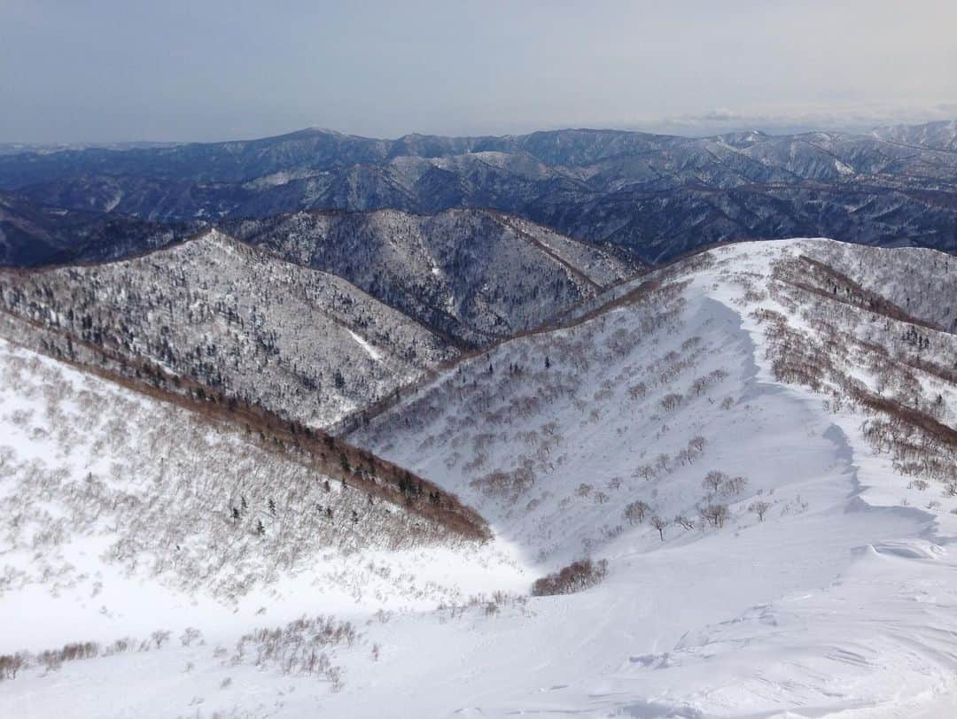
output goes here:
[{"label": "whole near snowfield covering foreground, left slope and right ridge", "polygon": [[[2,713],[957,715],[954,310],[928,300],[926,276],[870,272],[864,252],[826,240],[719,248],[456,362],[348,439],[456,492],[495,539],[435,529],[396,549],[372,539],[401,512],[368,512],[354,545],[323,534],[270,573],[282,546],[246,537],[255,571],[231,596],[216,581],[228,567],[187,580],[167,543],[140,534],[131,551],[152,569],[103,554],[132,510],[42,537],[17,512],[49,532],[36,508],[70,512],[56,488],[87,471],[120,463],[112,481],[156,488],[132,455],[180,457],[186,476],[228,465],[222,453],[242,438],[220,428],[203,447],[157,447],[146,419],[157,406],[4,345],[0,577],[13,580],[0,584],[0,654],[101,648],[34,656],[0,682]],[[952,297],[954,258],[926,258]],[[124,411],[84,414],[69,392],[50,409],[64,383],[125,393]],[[79,422],[85,442],[67,430]],[[195,437],[195,422],[178,416],[173,436]],[[32,479],[32,462],[50,478]],[[224,491],[236,480],[210,481]],[[29,512],[28,499],[39,503]],[[211,540],[188,527],[183,541],[205,546],[190,566],[209,572]],[[526,596],[586,556],[607,561],[603,581]],[[287,625],[300,615],[324,619]],[[253,632],[279,625],[282,641]],[[103,650],[125,635],[133,648]]]}]

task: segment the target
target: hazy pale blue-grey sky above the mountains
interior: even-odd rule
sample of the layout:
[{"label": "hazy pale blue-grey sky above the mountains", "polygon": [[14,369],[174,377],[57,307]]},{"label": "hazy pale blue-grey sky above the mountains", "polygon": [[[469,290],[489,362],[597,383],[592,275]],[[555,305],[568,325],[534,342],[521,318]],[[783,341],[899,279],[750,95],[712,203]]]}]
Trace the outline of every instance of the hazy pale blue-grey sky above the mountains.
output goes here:
[{"label": "hazy pale blue-grey sky above the mountains", "polygon": [[957,117],[957,2],[0,0],[0,142]]}]

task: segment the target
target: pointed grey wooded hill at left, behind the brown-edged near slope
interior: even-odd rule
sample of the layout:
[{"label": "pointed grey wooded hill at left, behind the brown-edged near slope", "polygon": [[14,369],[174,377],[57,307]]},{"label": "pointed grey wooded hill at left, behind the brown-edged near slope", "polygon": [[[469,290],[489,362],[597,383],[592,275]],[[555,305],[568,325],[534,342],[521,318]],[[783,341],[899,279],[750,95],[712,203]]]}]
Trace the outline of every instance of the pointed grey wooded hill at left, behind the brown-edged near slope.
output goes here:
[{"label": "pointed grey wooded hill at left, behind the brown-edged near slope", "polygon": [[327,425],[455,356],[345,280],[215,230],[121,262],[0,274],[12,315],[227,397]]}]

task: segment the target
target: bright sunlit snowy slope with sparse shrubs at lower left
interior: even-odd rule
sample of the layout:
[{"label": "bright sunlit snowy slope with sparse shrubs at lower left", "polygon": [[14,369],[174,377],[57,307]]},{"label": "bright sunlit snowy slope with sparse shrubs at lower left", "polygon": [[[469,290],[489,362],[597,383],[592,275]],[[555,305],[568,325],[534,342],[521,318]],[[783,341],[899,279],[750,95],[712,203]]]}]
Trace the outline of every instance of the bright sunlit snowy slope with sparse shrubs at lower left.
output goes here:
[{"label": "bright sunlit snowy slope with sparse shrubs at lower left", "polygon": [[[331,656],[355,639],[344,622],[357,603],[367,611],[431,607],[518,574],[501,550],[420,511],[418,500],[369,493],[340,467],[345,455],[335,444],[323,445],[332,454],[325,464],[288,438],[122,388],[6,340],[0,378],[4,715],[38,708],[18,703],[4,681],[15,652],[56,650],[34,653],[25,674],[101,653],[112,656],[98,661],[114,668],[141,665],[138,655],[161,648],[170,632],[171,643],[181,645],[182,635],[211,665],[221,663],[216,646],[230,646],[223,676],[254,665],[281,675],[289,660],[327,693],[340,670],[318,653],[307,666],[303,647],[274,642],[280,661],[263,647],[271,640],[257,636],[252,656],[240,650],[236,659],[234,643],[307,613],[309,623],[291,635]],[[368,481],[365,462],[348,456]],[[67,643],[79,648],[60,653]],[[183,665],[162,681],[175,681]],[[105,704],[57,713],[94,716],[110,700],[100,692],[98,701]],[[186,710],[186,701],[176,708]]]}]

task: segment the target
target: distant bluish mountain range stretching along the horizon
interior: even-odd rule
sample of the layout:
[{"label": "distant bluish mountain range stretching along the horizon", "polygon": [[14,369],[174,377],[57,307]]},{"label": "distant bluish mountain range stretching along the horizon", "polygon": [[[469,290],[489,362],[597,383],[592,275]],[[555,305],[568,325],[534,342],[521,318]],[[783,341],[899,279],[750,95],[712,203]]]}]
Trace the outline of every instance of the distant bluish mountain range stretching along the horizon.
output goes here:
[{"label": "distant bluish mountain range stretching along the horizon", "polygon": [[0,189],[33,206],[150,222],[491,208],[647,263],[715,242],[790,236],[955,251],[957,123],[703,139],[558,130],[387,141],[307,129],[247,142],[7,154]]}]

